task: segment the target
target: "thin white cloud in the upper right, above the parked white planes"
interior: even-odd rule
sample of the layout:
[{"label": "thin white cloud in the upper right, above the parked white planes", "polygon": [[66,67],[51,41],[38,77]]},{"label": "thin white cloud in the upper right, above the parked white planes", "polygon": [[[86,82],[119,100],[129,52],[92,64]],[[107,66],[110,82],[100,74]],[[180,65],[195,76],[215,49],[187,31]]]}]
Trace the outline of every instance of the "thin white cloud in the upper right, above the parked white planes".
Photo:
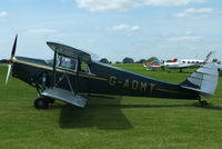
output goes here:
[{"label": "thin white cloud in the upper right, above the parked white planes", "polygon": [[212,8],[203,8],[203,9],[195,9],[189,8],[180,13],[175,13],[174,17],[184,18],[184,17],[201,17],[206,18],[209,14],[213,13],[214,9]]}]

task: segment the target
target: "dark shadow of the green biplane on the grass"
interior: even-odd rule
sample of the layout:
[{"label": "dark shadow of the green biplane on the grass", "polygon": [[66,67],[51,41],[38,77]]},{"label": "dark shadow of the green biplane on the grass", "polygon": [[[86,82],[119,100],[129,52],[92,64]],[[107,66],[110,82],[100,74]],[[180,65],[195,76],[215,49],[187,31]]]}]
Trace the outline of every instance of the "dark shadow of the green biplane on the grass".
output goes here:
[{"label": "dark shadow of the green biplane on the grass", "polygon": [[200,107],[200,103],[186,105],[121,105],[121,97],[114,99],[91,98],[84,109],[72,105],[60,105],[60,127],[61,128],[89,128],[97,127],[102,130],[125,130],[132,129],[132,125],[127,119],[122,109],[125,108],[176,108],[196,107],[209,110],[221,110],[222,107],[213,103]]}]

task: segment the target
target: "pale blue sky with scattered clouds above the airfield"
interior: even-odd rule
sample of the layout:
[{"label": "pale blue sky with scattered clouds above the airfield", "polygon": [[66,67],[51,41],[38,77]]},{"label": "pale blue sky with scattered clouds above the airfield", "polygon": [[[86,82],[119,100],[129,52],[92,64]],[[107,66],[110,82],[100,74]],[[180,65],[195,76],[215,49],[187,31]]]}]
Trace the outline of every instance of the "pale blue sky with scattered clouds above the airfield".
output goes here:
[{"label": "pale blue sky with scattered clouds above the airfield", "polygon": [[220,0],[0,0],[0,59],[50,59],[56,41],[121,61],[150,57],[222,59]]}]

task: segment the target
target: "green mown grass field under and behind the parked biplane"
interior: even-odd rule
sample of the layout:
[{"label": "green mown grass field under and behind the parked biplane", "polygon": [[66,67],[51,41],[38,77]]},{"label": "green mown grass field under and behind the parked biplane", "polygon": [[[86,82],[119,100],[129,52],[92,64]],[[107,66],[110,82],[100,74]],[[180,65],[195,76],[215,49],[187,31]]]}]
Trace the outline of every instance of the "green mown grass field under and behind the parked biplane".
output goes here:
[{"label": "green mown grass field under and behind the parked biplane", "polygon": [[[118,67],[181,82],[189,73]],[[209,106],[195,100],[90,98],[84,109],[56,102],[37,110],[34,88],[10,78],[0,66],[0,149],[221,149],[222,78]]]}]

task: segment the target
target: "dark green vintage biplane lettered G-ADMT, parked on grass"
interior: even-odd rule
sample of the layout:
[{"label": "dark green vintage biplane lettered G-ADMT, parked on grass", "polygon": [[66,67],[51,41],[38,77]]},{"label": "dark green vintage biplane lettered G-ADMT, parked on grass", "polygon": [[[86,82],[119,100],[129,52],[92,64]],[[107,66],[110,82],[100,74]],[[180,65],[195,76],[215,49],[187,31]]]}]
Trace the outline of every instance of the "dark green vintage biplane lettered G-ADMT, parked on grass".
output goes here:
[{"label": "dark green vintage biplane lettered G-ADMT, parked on grass", "polygon": [[84,51],[69,46],[47,42],[53,50],[53,61],[14,57],[13,43],[9,70],[12,76],[37,88],[37,109],[46,109],[54,100],[84,107],[89,95],[118,95],[199,100],[201,95],[211,97],[218,85],[218,68],[213,63],[202,66],[182,83],[169,83],[138,73],[107,66],[91,59]]}]

